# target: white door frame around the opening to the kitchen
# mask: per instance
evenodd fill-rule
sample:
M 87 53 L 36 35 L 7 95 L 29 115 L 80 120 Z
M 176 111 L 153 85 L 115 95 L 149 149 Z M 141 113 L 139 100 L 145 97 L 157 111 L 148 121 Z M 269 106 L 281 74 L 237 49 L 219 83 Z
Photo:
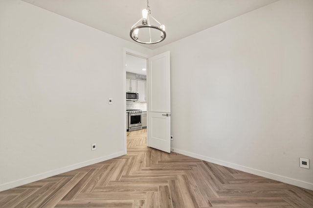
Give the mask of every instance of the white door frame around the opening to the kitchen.
M 146 64 L 147 64 L 147 69 L 148 69 L 148 58 L 150 57 L 149 55 L 147 54 L 143 54 L 143 53 L 140 53 L 140 52 L 137 52 L 137 51 L 134 51 L 134 50 L 131 50 L 131 49 L 128 49 L 128 48 L 123 48 L 123 100 L 124 100 L 124 112 L 123 112 L 123 129 L 124 129 L 124 139 L 123 139 L 123 149 L 124 149 L 124 153 L 127 154 L 127 134 L 126 134 L 126 130 L 125 130 L 125 127 L 126 127 L 126 117 L 125 117 L 125 113 L 126 113 L 126 93 L 125 93 L 125 89 L 126 89 L 126 54 L 130 54 L 130 55 L 133 55 L 135 57 L 139 57 L 139 58 L 144 58 L 146 59 Z M 148 71 L 148 70 L 147 70 Z M 148 80 L 146 80 L 148 82 Z M 147 86 L 147 85 L 146 85 Z M 147 108 L 148 108 L 148 99 L 147 99 Z M 148 117 L 148 112 L 147 112 L 147 117 Z M 148 129 L 148 126 L 147 126 L 147 129 Z

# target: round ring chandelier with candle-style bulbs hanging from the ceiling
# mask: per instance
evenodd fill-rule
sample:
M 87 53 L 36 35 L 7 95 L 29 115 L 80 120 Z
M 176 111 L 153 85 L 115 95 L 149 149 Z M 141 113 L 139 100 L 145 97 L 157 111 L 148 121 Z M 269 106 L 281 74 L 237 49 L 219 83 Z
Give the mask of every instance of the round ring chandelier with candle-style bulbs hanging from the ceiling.
M 151 15 L 149 0 L 147 8 L 142 10 L 142 18 L 132 26 L 130 36 L 134 41 L 143 44 L 155 44 L 166 38 L 165 26 Z

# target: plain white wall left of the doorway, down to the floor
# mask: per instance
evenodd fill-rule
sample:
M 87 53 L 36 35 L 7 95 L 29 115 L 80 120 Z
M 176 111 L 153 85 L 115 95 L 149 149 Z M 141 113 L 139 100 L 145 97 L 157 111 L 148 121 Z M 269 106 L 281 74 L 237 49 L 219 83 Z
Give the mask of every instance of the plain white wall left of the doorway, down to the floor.
M 0 31 L 0 190 L 125 153 L 123 48 L 151 50 L 20 0 Z

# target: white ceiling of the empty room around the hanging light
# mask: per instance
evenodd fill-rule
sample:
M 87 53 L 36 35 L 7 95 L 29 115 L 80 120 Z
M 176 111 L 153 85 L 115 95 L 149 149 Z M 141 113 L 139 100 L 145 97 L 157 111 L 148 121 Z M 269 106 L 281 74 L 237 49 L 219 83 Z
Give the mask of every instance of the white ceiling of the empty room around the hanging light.
M 146 0 L 23 0 L 53 13 L 134 42 L 130 28 L 141 18 Z M 277 0 L 150 0 L 151 14 L 166 26 L 169 44 Z

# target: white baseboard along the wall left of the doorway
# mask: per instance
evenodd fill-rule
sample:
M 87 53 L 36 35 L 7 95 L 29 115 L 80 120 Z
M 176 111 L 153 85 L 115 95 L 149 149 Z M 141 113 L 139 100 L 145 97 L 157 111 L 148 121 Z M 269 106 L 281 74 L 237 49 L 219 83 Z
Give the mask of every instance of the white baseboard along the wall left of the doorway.
M 15 188 L 15 187 L 19 187 L 19 186 L 22 186 L 22 185 L 25 185 L 25 184 L 28 184 L 28 183 L 32 183 L 32 182 L 35 182 L 35 181 L 38 181 L 38 180 L 42 180 L 42 179 L 51 177 L 53 175 L 58 175 L 58 174 L 61 174 L 61 173 L 64 173 L 64 172 L 67 172 L 67 171 L 70 171 L 70 170 L 83 168 L 85 166 L 89 166 L 89 165 L 92 165 L 92 164 L 95 164 L 95 163 L 99 163 L 99 162 L 102 162 L 102 161 L 110 160 L 112 158 L 119 157 L 119 156 L 122 156 L 122 155 L 125 155 L 124 151 L 116 152 L 114 154 L 110 154 L 110 155 L 103 156 L 103 157 L 98 157 L 98 158 L 95 158 L 95 159 L 92 159 L 92 160 L 88 160 L 88 161 L 85 161 L 85 162 L 77 163 L 77 164 L 70 165 L 70 166 L 67 166 L 67 167 L 64 167 L 64 168 L 60 168 L 60 169 L 56 169 L 56 170 L 51 170 L 51 171 L 39 173 L 37 175 L 33 175 L 33 176 L 30 176 L 30 177 L 27 177 L 27 178 L 22 178 L 22 179 L 19 179 L 19 180 L 16 180 L 16 181 L 12 181 L 12 182 L 8 182 L 8 183 L 5 183 L 5 184 L 0 184 L 0 191 L 7 190 L 7 189 L 12 189 L 12 188 Z

